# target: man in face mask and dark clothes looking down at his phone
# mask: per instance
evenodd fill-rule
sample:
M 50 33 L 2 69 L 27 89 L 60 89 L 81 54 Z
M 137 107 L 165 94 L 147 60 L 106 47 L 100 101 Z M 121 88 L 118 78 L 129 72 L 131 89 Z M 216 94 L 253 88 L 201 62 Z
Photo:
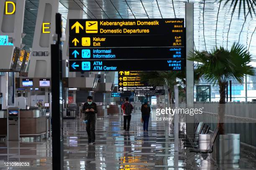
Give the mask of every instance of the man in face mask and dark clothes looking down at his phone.
M 87 97 L 87 102 L 84 103 L 82 112 L 84 113 L 84 120 L 87 120 L 86 123 L 86 132 L 88 136 L 87 144 L 95 144 L 95 121 L 97 113 L 97 105 L 95 102 L 92 102 L 92 96 Z

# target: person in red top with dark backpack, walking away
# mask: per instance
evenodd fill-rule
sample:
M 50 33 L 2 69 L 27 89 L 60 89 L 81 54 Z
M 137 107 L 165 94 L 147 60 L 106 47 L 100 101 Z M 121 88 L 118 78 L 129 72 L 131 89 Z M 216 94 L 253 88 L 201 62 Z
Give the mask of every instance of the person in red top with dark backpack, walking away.
M 131 121 L 131 112 L 133 110 L 133 105 L 129 102 L 129 97 L 125 97 L 125 102 L 122 105 L 123 110 L 123 130 L 129 131 L 130 121 Z M 126 126 L 127 122 L 127 126 Z

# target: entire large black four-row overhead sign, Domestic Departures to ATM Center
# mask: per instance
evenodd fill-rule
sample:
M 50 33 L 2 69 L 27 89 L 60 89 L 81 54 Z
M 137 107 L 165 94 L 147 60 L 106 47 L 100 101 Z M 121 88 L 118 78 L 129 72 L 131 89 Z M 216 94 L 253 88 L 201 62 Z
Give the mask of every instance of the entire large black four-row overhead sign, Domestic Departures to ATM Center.
M 184 19 L 69 20 L 69 71 L 184 70 Z

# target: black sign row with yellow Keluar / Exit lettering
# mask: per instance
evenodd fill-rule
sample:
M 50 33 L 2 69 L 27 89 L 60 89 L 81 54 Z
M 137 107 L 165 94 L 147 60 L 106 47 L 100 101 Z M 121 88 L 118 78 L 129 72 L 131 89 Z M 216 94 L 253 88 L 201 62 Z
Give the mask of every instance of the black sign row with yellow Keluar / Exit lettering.
M 176 37 L 176 38 L 175 38 Z M 184 35 L 69 36 L 69 47 L 184 47 Z

